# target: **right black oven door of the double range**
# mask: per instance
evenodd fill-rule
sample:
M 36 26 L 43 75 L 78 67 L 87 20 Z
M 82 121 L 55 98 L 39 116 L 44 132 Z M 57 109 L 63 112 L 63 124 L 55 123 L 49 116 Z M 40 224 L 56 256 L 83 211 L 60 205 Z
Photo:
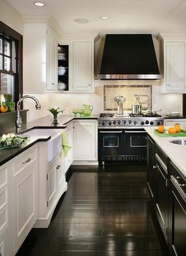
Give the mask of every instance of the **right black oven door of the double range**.
M 125 150 L 128 155 L 147 155 L 147 132 L 143 129 L 125 130 Z

